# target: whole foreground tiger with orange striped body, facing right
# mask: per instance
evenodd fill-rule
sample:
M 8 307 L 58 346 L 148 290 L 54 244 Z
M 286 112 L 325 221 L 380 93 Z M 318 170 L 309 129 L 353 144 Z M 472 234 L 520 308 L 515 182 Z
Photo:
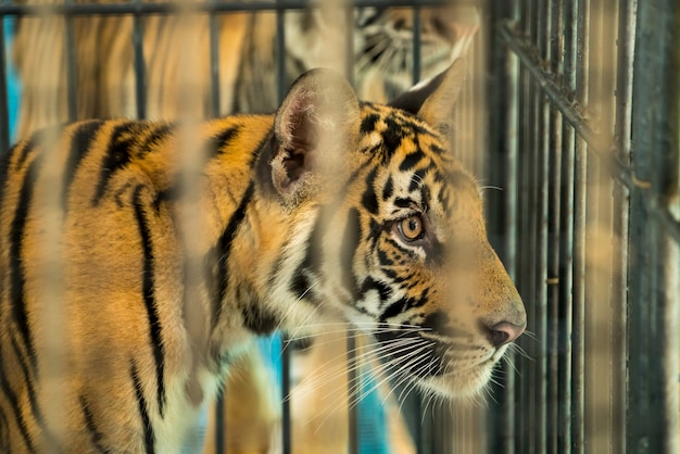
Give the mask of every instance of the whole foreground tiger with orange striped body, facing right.
M 312 70 L 275 114 L 90 119 L 0 165 L 0 449 L 181 451 L 254 336 L 345 323 L 476 395 L 526 328 L 454 157 L 464 68 L 391 104 Z

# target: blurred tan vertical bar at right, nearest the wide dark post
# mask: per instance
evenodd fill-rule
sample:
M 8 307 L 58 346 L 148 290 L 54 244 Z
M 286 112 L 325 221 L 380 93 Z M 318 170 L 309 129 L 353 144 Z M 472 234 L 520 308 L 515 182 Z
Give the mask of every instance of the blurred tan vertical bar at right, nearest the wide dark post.
M 587 25 L 589 31 L 587 48 L 583 53 L 588 62 L 588 105 L 599 113 L 593 118 L 599 126 L 603 139 L 609 139 L 614 133 L 614 90 L 616 77 L 616 1 L 591 1 L 581 3 L 587 8 Z M 579 76 L 579 87 L 581 86 Z M 580 88 L 576 100 L 580 99 Z M 610 136 L 612 135 L 612 136 Z M 591 143 L 595 146 L 595 143 Z M 619 346 L 612 343 L 613 315 L 609 301 L 613 291 L 613 278 L 616 273 L 612 267 L 612 254 L 617 247 L 617 238 L 613 235 L 613 197 L 615 180 L 612 178 L 610 166 L 606 152 L 610 149 L 599 147 L 588 150 L 588 186 L 585 194 L 585 294 L 583 304 L 584 319 L 584 383 L 583 383 L 583 439 L 588 452 L 613 453 L 612 440 L 612 400 L 613 382 L 612 357 Z M 578 153 L 578 149 L 577 149 Z M 597 154 L 600 153 L 600 154 Z M 578 162 L 578 154 L 577 154 Z M 578 167 L 577 167 L 578 171 Z M 577 187 L 578 194 L 578 187 Z M 578 196 L 577 196 L 578 200 Z M 577 210 L 578 212 L 578 210 Z M 608 237 L 605 237 L 607 235 Z M 609 241 L 607 241 L 607 239 Z M 578 301 L 578 298 L 575 298 Z

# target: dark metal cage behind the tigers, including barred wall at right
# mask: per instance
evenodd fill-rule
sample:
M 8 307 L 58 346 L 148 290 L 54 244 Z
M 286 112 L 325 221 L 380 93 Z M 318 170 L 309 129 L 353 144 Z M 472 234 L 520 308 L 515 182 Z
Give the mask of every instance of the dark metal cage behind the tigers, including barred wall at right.
M 413 79 L 418 80 L 420 10 L 449 2 L 345 3 L 350 13 L 356 7 L 413 9 Z M 680 4 L 466 3 L 480 8 L 482 22 L 473 50 L 474 89 L 466 100 L 473 108 L 459 128 L 476 134 L 468 161 L 490 187 L 490 238 L 518 285 L 531 332 L 500 370 L 486 406 L 403 403 L 414 445 L 423 454 L 678 453 Z M 193 8 L 210 14 L 275 11 L 280 75 L 284 14 L 316 5 L 214 0 Z M 74 17 L 133 15 L 137 116 L 144 117 L 142 18 L 173 14 L 175 7 L 138 0 L 0 2 L 0 149 L 8 149 L 12 136 L 5 31 L 14 18 L 62 15 L 63 39 L 73 49 Z M 214 25 L 210 33 L 216 59 Z M 347 48 L 351 51 L 351 37 Z M 74 119 L 74 52 L 67 52 L 65 64 Z M 211 67 L 217 68 L 214 61 Z M 218 114 L 218 71 L 211 80 Z M 278 78 L 279 97 L 286 84 Z M 290 387 L 287 358 L 282 395 Z M 365 452 L 358 443 L 361 415 L 349 415 L 348 452 Z M 291 453 L 288 400 L 282 417 L 281 450 Z M 217 438 L 217 446 L 224 446 L 224 434 Z

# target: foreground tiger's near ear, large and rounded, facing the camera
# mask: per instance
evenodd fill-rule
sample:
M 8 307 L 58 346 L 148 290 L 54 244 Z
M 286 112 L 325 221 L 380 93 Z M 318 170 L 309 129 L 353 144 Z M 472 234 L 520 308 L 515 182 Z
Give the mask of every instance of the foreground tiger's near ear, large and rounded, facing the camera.
M 291 86 L 276 112 L 278 142 L 270 160 L 272 181 L 285 200 L 299 200 L 342 173 L 356 147 L 358 100 L 350 84 L 330 70 L 312 70 Z

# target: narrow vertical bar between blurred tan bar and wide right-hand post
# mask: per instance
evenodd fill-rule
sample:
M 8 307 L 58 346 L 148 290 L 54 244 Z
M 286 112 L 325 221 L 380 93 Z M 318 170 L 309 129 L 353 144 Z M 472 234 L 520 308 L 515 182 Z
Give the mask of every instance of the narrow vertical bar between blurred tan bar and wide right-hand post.
M 632 126 L 632 81 L 633 55 L 635 41 L 635 0 L 619 2 L 618 13 L 618 51 L 616 79 L 616 126 L 615 141 L 620 162 L 630 163 L 631 126 Z M 628 408 L 628 248 L 624 247 L 629 239 L 629 194 L 621 185 L 614 189 L 614 235 L 619 238 L 620 249 L 613 256 L 612 300 L 612 402 L 614 408 L 612 424 L 612 452 L 627 452 L 626 411 Z

